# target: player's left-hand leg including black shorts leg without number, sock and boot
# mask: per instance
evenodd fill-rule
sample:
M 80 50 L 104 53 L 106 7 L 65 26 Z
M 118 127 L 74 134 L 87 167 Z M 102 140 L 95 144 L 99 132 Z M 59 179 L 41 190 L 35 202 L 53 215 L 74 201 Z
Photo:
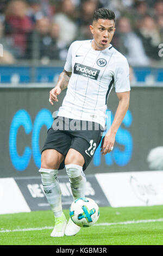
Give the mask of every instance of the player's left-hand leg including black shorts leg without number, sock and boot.
M 57 122 L 58 119 L 54 119 Z M 51 236 L 63 236 L 66 218 L 62 212 L 61 190 L 57 179 L 58 169 L 71 145 L 71 137 L 64 131 L 48 130 L 46 142 L 41 154 L 41 179 L 46 198 L 51 205 L 55 217 L 55 227 Z

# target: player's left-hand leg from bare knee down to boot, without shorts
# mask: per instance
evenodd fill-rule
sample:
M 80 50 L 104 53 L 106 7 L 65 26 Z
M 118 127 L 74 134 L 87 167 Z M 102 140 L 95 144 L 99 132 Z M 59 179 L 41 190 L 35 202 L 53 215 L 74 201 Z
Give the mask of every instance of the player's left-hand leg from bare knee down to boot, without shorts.
M 64 236 L 66 228 L 66 218 L 62 212 L 61 205 L 61 189 L 57 179 L 58 168 L 60 163 L 64 160 L 64 156 L 54 149 L 47 149 L 41 155 L 41 180 L 43 190 L 49 205 L 55 217 L 55 226 L 51 236 Z

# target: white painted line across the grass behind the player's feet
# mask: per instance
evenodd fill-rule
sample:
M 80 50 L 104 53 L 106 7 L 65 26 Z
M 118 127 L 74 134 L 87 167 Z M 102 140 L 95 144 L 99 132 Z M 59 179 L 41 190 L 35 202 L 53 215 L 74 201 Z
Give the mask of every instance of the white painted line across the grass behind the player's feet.
M 163 218 L 158 218 L 156 220 L 139 220 L 139 221 L 124 221 L 124 222 L 113 222 L 113 223 L 97 223 L 92 227 L 99 226 L 110 226 L 110 225 L 127 225 L 127 224 L 138 224 L 138 223 L 149 223 L 149 222 L 163 222 Z M 18 232 L 18 231 L 35 231 L 44 229 L 53 229 L 54 227 L 42 227 L 42 228 L 23 228 L 23 229 L 1 229 L 0 233 Z

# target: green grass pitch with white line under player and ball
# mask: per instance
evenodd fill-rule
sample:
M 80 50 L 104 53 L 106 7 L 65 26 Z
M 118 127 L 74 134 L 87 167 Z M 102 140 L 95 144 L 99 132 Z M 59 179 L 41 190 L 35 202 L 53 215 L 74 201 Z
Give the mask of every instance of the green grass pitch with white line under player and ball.
M 58 238 L 52 211 L 0 215 L 0 245 L 163 245 L 163 205 L 99 210 L 98 225 Z

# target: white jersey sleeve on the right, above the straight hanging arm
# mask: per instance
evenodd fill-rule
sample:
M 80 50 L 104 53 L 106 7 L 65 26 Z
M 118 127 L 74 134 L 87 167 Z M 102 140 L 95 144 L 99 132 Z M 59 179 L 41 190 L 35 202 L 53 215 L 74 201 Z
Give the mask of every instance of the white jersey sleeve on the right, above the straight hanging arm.
M 130 90 L 129 65 L 126 58 L 117 62 L 115 77 L 115 92 L 123 93 Z

